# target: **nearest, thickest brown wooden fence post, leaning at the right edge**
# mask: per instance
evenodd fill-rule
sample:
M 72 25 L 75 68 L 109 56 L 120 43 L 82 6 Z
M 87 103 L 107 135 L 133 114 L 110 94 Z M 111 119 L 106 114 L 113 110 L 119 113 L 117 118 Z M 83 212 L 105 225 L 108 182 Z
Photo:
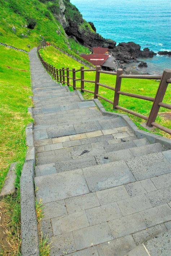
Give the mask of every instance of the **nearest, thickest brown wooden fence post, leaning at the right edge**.
M 149 114 L 148 120 L 146 122 L 146 125 L 148 127 L 152 126 L 152 123 L 155 121 L 155 119 L 157 117 L 157 114 L 158 114 L 158 111 L 159 111 L 159 108 L 160 108 L 159 102 L 163 101 L 163 98 L 165 96 L 167 86 L 168 86 L 168 83 L 167 83 L 166 80 L 169 79 L 169 78 L 171 78 L 171 70 L 170 69 L 165 69 L 163 71 L 162 78 L 161 78 L 161 81 L 160 81 L 159 86 L 158 86 L 157 93 L 156 93 L 155 98 L 154 98 L 153 106 L 150 110 L 150 114 Z

